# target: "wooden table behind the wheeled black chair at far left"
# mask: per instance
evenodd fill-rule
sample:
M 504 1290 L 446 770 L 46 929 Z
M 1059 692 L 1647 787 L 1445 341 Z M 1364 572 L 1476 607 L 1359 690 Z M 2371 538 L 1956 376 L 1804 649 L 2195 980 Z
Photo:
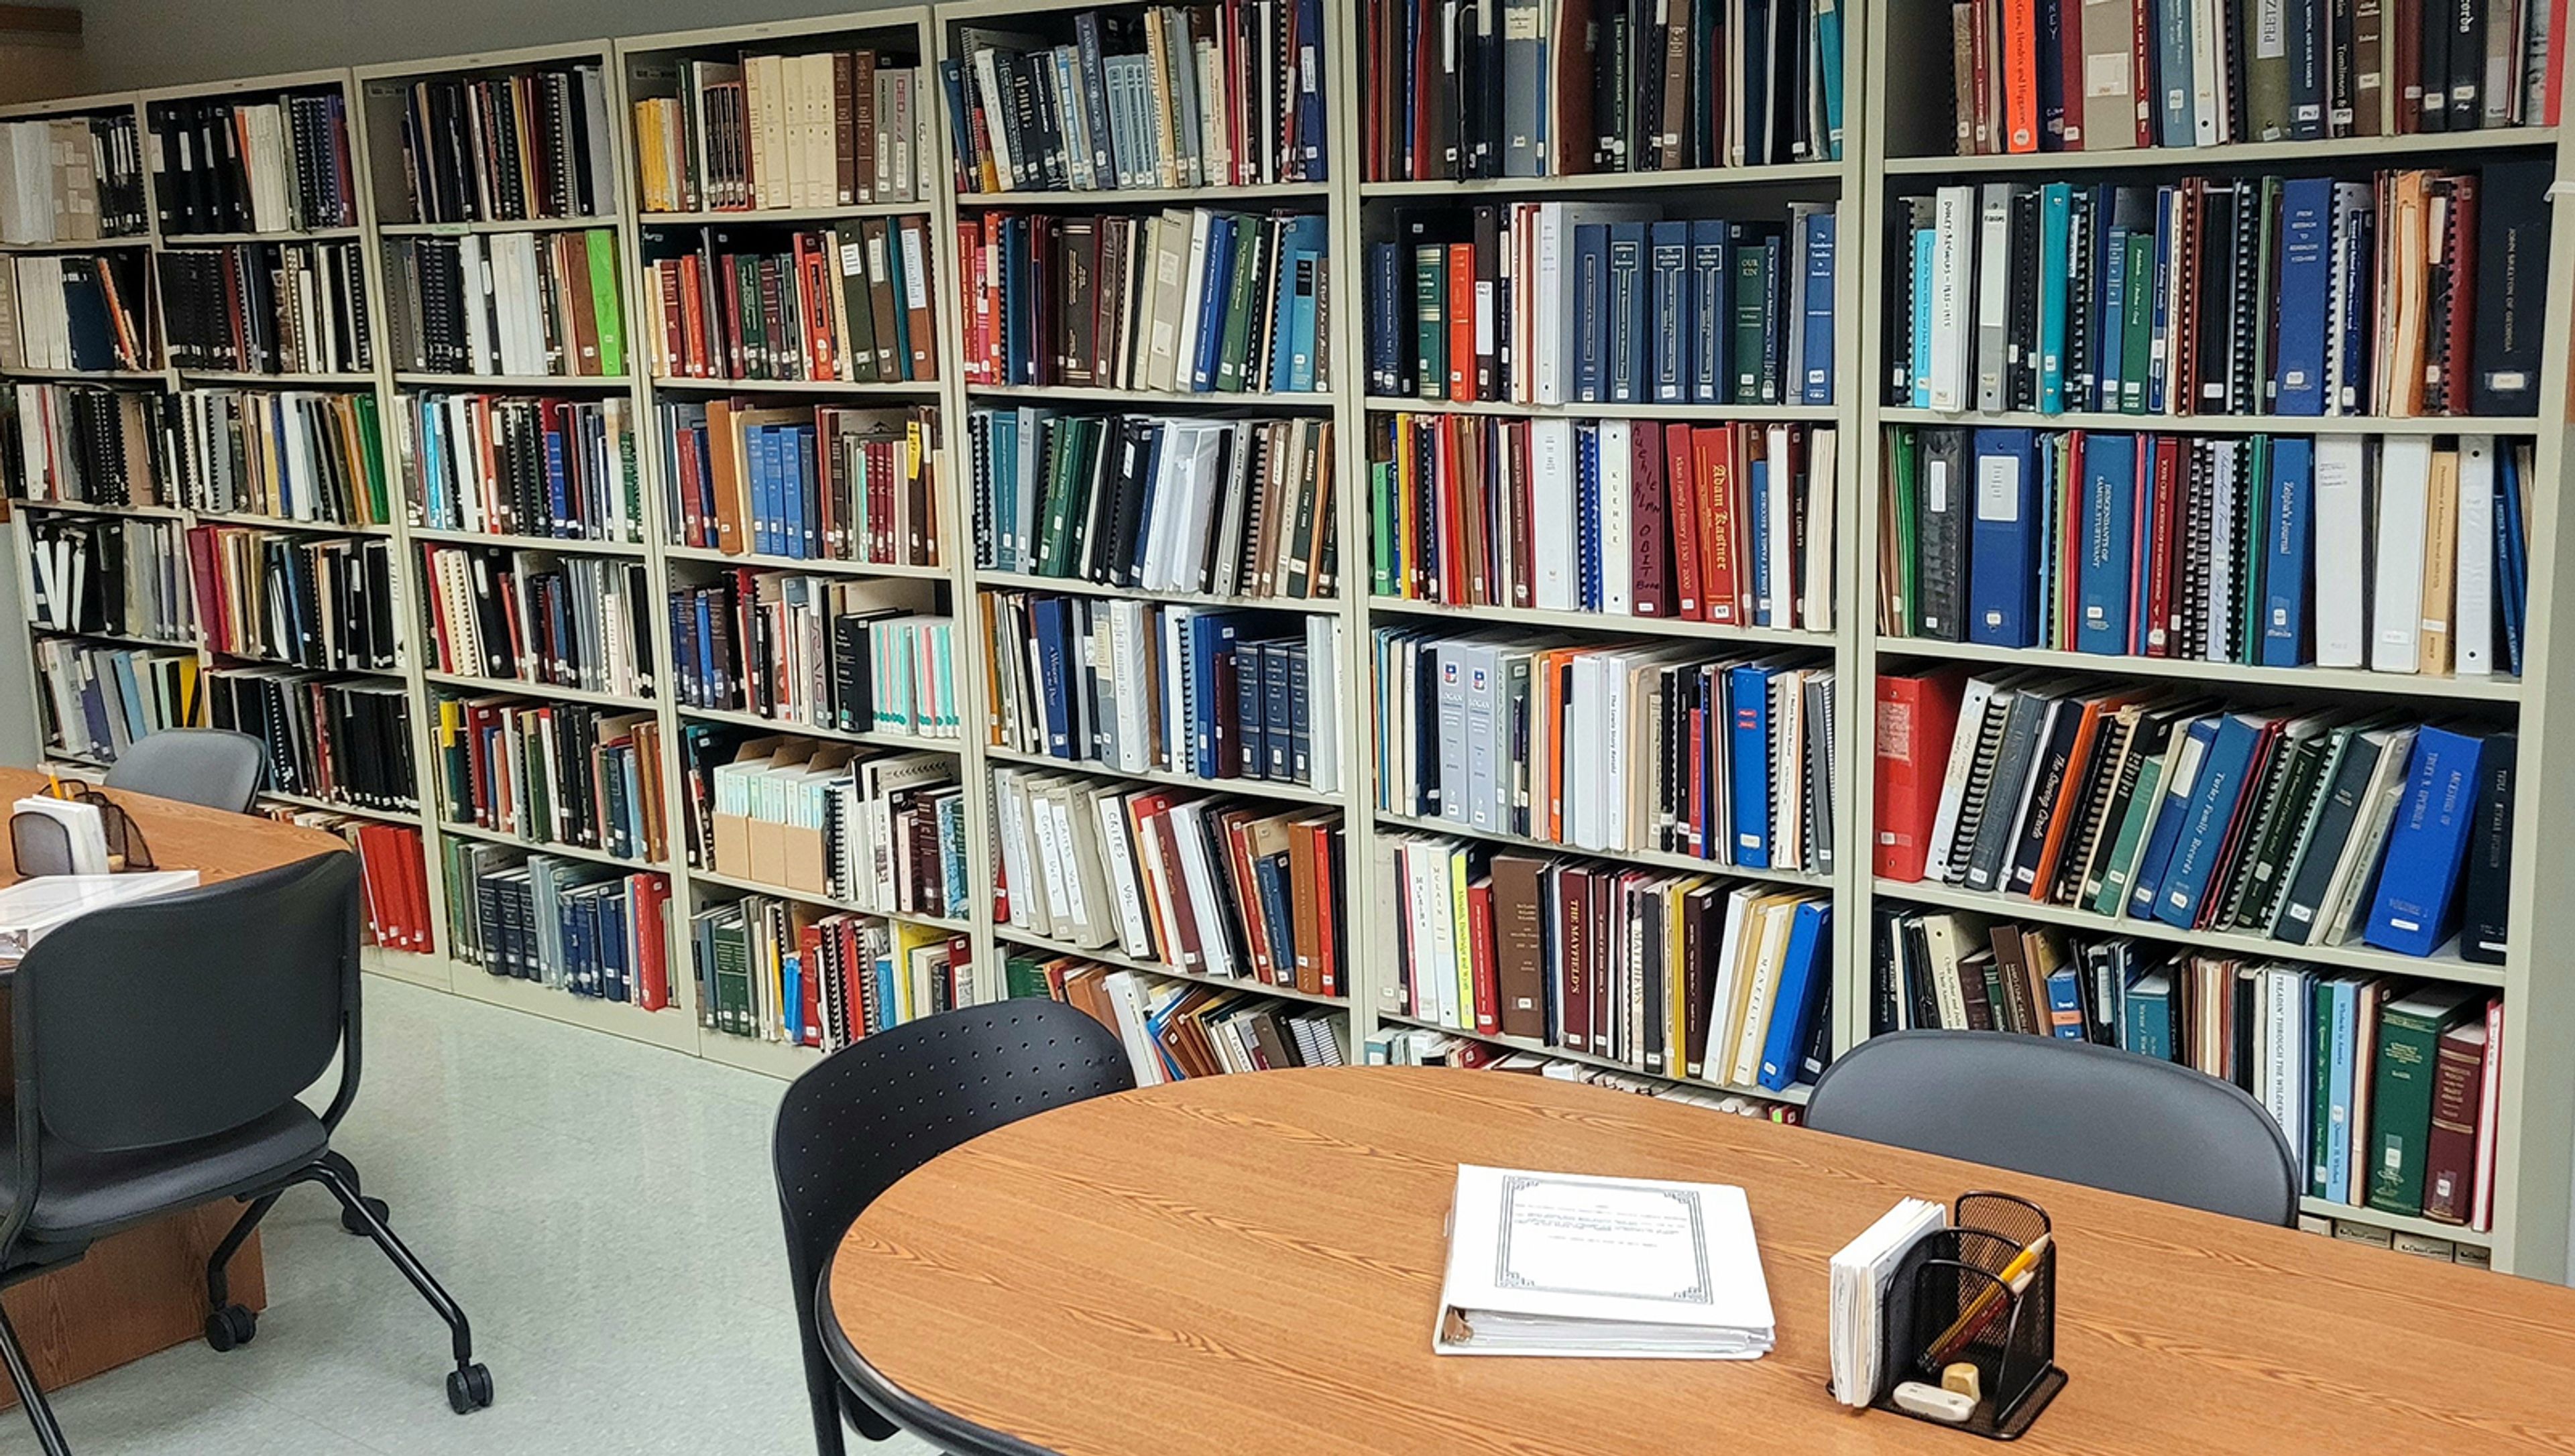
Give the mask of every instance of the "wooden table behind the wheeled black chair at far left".
M 46 777 L 33 769 L 0 769 L 0 803 L 15 803 L 44 785 Z M 111 797 L 142 828 L 154 864 L 196 869 L 209 885 L 348 849 L 337 836 L 270 818 L 131 792 Z M 15 882 L 15 864 L 0 857 L 0 885 Z M 0 1106 L 10 1101 L 10 1065 L 8 990 L 0 985 Z M 80 1263 L 0 1294 L 44 1389 L 201 1338 L 206 1255 L 237 1217 L 242 1209 L 232 1199 L 173 1214 L 100 1240 Z M 268 1307 L 258 1235 L 232 1255 L 232 1299 L 250 1309 Z M 0 1379 L 0 1410 L 10 1405 L 18 1405 L 18 1392 Z

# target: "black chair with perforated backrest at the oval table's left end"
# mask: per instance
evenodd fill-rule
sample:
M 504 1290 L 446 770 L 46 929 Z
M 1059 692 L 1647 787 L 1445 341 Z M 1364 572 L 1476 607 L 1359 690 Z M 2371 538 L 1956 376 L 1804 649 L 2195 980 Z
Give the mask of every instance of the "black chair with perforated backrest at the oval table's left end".
M 857 1214 L 904 1173 L 971 1137 L 1133 1086 L 1107 1026 L 1038 998 L 906 1021 L 796 1078 L 778 1106 L 772 1165 L 821 1456 L 845 1456 L 842 1420 L 868 1441 L 896 1430 L 834 1366 L 850 1351 L 821 1284 Z M 837 1348 L 827 1353 L 824 1340 Z

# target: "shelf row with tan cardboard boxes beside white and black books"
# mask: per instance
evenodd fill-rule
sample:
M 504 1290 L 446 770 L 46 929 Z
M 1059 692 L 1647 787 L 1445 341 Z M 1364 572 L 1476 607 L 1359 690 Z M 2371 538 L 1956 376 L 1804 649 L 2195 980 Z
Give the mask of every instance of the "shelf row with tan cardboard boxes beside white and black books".
M 682 728 L 690 864 L 878 916 L 966 918 L 966 792 L 950 754 Z

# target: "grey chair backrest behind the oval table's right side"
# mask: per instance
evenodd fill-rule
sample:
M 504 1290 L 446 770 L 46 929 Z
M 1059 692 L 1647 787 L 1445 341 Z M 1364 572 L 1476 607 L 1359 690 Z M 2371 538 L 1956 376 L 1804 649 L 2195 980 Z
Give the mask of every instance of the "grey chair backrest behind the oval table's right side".
M 1805 1124 L 2266 1224 L 2297 1214 L 2297 1158 L 2243 1088 L 2088 1042 L 1869 1037 L 1815 1080 Z

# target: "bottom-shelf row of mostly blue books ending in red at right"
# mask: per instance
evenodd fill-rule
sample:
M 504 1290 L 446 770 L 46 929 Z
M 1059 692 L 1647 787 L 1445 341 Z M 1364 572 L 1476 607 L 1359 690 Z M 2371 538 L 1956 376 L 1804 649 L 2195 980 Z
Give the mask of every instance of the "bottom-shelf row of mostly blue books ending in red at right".
M 670 877 L 448 839 L 445 882 L 458 960 L 595 1001 L 670 1006 Z

